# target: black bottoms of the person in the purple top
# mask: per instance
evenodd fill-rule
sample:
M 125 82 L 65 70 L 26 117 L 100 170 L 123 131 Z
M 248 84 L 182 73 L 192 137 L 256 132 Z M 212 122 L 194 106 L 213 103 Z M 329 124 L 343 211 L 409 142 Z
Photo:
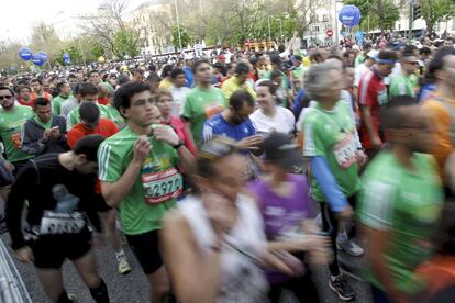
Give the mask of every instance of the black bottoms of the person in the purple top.
M 317 288 L 311 279 L 311 271 L 308 266 L 306 266 L 306 272 L 302 277 L 296 277 L 285 282 L 270 284 L 268 299 L 271 303 L 279 302 L 282 290 L 291 291 L 299 302 L 320 302 Z

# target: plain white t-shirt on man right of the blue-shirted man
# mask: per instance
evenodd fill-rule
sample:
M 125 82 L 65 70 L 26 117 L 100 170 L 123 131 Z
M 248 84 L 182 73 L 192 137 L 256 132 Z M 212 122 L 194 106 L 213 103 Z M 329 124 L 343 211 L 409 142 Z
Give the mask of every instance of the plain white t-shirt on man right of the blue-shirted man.
M 267 116 L 260 109 L 256 110 L 251 116 L 256 133 L 269 134 L 274 131 L 279 133 L 289 134 L 293 131 L 296 119 L 291 111 L 288 109 L 277 106 L 277 111 L 274 117 Z

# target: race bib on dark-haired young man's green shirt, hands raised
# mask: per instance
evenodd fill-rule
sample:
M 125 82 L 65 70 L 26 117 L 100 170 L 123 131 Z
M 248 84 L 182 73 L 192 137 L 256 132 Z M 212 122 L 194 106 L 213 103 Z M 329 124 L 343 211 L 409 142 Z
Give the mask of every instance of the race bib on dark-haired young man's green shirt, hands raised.
M 181 194 L 184 180 L 177 169 L 169 168 L 155 173 L 143 173 L 142 184 L 147 204 L 159 204 Z

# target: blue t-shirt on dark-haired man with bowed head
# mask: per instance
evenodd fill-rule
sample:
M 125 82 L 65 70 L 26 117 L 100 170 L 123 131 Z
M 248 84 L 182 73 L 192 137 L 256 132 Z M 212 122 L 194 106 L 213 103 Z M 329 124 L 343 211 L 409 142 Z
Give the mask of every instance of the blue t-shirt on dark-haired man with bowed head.
M 210 141 L 213 136 L 226 136 L 235 141 L 253 136 L 256 130 L 249 117 L 240 125 L 229 123 L 221 113 L 212 116 L 202 127 L 202 138 L 204 142 Z

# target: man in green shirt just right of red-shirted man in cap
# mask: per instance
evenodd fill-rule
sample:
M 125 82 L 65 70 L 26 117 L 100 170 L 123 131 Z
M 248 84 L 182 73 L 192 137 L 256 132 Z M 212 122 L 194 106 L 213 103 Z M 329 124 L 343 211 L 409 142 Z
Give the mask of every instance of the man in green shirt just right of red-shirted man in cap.
M 419 66 L 419 59 L 414 54 L 404 54 L 401 59 L 401 74 L 390 80 L 390 97 L 406 94 L 415 97 L 418 87 L 418 77 L 415 76 Z

